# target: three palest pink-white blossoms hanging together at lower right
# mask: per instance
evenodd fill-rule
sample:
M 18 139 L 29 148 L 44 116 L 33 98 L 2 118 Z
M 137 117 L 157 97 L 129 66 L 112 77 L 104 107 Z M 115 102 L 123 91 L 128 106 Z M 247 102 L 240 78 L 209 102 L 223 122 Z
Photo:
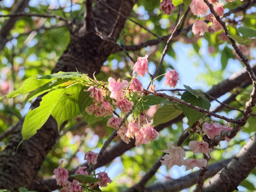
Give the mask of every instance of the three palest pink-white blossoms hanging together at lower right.
M 202 144 L 202 142 L 197 141 L 191 142 L 189 143 L 189 148 L 195 154 L 202 152 L 209 156 L 208 153 L 211 152 L 211 149 L 207 149 L 206 144 Z M 162 150 L 167 154 L 163 156 L 163 160 L 161 160 L 161 163 L 162 165 L 167 165 L 168 169 L 170 169 L 174 165 L 185 165 L 186 171 L 189 169 L 193 169 L 194 167 L 199 167 L 200 169 L 202 169 L 203 167 L 207 166 L 207 160 L 205 159 L 184 159 L 186 156 L 184 149 L 182 149 L 181 147 L 176 147 L 172 141 L 169 144 L 167 144 L 167 147 L 167 150 Z

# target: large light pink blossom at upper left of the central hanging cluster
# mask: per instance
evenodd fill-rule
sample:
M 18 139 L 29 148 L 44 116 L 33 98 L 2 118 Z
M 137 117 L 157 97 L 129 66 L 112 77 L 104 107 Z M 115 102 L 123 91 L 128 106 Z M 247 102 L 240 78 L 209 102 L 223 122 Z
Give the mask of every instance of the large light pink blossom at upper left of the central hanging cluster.
M 119 100 L 124 96 L 124 91 L 123 89 L 126 89 L 128 86 L 128 81 L 127 80 L 122 80 L 118 79 L 117 81 L 110 77 L 109 78 L 109 90 L 111 91 L 110 98 L 115 99 L 116 101 Z

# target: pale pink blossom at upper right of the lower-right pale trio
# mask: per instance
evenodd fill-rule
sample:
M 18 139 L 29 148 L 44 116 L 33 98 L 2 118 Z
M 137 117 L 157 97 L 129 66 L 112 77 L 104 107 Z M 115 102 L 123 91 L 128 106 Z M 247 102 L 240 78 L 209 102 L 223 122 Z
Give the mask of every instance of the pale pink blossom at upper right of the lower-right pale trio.
M 195 154 L 204 153 L 208 158 L 210 158 L 209 153 L 212 151 L 212 149 L 209 148 L 208 143 L 201 141 L 190 141 L 188 147 Z

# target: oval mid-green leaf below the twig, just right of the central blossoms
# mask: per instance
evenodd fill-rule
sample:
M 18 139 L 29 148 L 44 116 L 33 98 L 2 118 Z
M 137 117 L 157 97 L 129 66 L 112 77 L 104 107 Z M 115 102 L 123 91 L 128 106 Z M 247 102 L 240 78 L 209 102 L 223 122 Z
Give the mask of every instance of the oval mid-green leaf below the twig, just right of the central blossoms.
M 177 104 L 163 105 L 154 115 L 154 125 L 166 123 L 182 114 L 181 107 Z

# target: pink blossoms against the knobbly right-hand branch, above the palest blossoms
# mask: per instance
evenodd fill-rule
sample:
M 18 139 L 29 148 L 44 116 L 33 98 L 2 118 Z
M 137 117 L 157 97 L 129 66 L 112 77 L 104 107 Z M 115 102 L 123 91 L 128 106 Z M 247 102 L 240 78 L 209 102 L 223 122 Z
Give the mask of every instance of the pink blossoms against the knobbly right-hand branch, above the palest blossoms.
M 223 125 L 221 125 L 219 123 L 214 123 L 214 122 L 211 122 L 211 124 L 208 123 L 208 122 L 205 122 L 203 124 L 202 128 L 203 128 L 203 132 L 205 134 L 207 134 L 210 137 L 210 139 L 214 139 L 214 137 L 216 135 L 221 134 L 222 130 L 230 131 L 232 129 L 231 127 L 229 127 L 229 124 L 227 124 L 226 126 L 223 126 Z M 225 141 L 230 142 L 231 139 L 226 137 Z

